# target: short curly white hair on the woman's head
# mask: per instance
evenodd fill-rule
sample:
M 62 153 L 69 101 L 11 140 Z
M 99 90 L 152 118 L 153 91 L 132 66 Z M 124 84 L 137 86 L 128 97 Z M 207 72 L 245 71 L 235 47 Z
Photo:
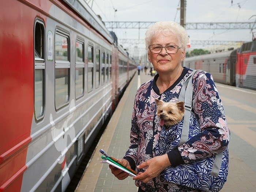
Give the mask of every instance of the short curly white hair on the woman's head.
M 182 49 L 186 47 L 189 41 L 187 31 L 180 24 L 173 21 L 160 21 L 148 28 L 145 33 L 146 50 L 148 50 L 152 38 L 159 33 L 163 33 L 166 36 L 169 34 L 176 35 Z

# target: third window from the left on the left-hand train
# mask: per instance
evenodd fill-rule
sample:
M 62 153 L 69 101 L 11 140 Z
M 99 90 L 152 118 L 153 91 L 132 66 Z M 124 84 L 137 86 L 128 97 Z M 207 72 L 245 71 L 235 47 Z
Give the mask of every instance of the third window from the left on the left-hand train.
M 84 94 L 84 44 L 76 41 L 76 73 L 75 73 L 75 95 L 76 99 Z

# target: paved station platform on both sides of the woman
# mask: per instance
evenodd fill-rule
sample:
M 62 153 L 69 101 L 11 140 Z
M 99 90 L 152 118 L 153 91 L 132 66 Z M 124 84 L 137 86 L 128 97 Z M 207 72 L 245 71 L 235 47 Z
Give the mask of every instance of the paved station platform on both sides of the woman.
M 84 174 L 75 189 L 75 192 L 136 192 L 132 177 L 125 180 L 118 180 L 111 173 L 108 164 L 99 163 L 101 161 L 100 149 L 115 158 L 122 158 L 129 146 L 129 133 L 131 128 L 131 116 L 135 92 L 140 84 L 147 82 L 153 77 L 144 74 L 136 74 L 129 86 L 125 90 L 123 97 L 118 103 L 117 109 L 113 113 L 109 124 L 103 132 L 101 139 L 84 171 Z M 256 191 L 256 108 L 239 105 L 239 101 L 230 99 L 228 93 L 236 95 L 233 91 L 240 91 L 238 88 L 226 91 L 231 86 L 217 84 L 225 110 L 227 122 L 231 131 L 231 141 L 229 145 L 229 174 L 227 182 L 221 192 L 251 192 Z M 232 87 L 230 89 L 233 89 Z M 222 94 L 223 92 L 223 94 Z M 256 91 L 248 91 L 249 96 L 255 98 Z M 251 105 L 251 104 L 250 104 Z M 234 107 L 242 108 L 246 114 L 251 114 L 248 121 L 234 118 L 237 114 L 232 114 Z M 234 115 L 234 116 L 233 116 Z M 247 115 L 248 116 L 248 115 Z M 242 117 L 243 118 L 243 117 Z M 236 121 L 241 121 L 237 123 Z M 243 123 L 244 122 L 244 123 Z M 243 124 L 243 131 L 239 131 L 239 125 Z M 241 126 L 240 126 L 241 127 Z M 254 139 L 253 139 L 254 138 Z

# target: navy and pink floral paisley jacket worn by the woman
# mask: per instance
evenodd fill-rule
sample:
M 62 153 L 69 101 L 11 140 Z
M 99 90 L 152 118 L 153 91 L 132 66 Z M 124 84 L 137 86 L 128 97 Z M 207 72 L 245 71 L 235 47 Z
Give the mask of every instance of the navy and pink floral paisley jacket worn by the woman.
M 161 127 L 159 124 L 160 119 L 156 115 L 157 105 L 154 99 L 177 102 L 181 87 L 191 72 L 192 69 L 184 68 L 179 79 L 162 94 L 159 94 L 156 86 L 158 74 L 153 80 L 142 84 L 136 92 L 131 122 L 131 144 L 124 157 L 133 168 L 148 159 L 166 153 L 172 166 L 196 162 L 211 157 L 227 147 L 229 130 L 225 113 L 212 76 L 207 72 L 198 71 L 193 76 L 194 115 L 191 115 L 190 121 L 193 126 L 189 128 L 188 141 L 178 147 L 183 120 L 170 127 Z M 144 172 L 144 170 L 137 171 Z M 146 184 L 140 181 L 135 181 L 135 184 L 147 192 L 194 190 L 167 182 L 163 173 Z

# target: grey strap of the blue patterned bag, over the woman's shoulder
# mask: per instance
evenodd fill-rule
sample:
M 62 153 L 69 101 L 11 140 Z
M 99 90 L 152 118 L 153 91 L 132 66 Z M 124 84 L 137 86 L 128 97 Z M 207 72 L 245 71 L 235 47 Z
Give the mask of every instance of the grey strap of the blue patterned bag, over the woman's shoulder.
M 188 78 L 185 80 L 178 101 L 184 101 L 185 112 L 184 112 L 184 121 L 181 131 L 180 143 L 178 146 L 181 146 L 183 143 L 188 141 L 188 131 L 189 131 L 189 120 L 192 110 L 192 96 L 193 96 L 193 86 L 192 86 L 192 77 L 197 70 L 189 74 Z M 219 170 L 221 168 L 223 151 L 215 155 L 214 163 L 212 165 L 211 176 L 218 177 Z

